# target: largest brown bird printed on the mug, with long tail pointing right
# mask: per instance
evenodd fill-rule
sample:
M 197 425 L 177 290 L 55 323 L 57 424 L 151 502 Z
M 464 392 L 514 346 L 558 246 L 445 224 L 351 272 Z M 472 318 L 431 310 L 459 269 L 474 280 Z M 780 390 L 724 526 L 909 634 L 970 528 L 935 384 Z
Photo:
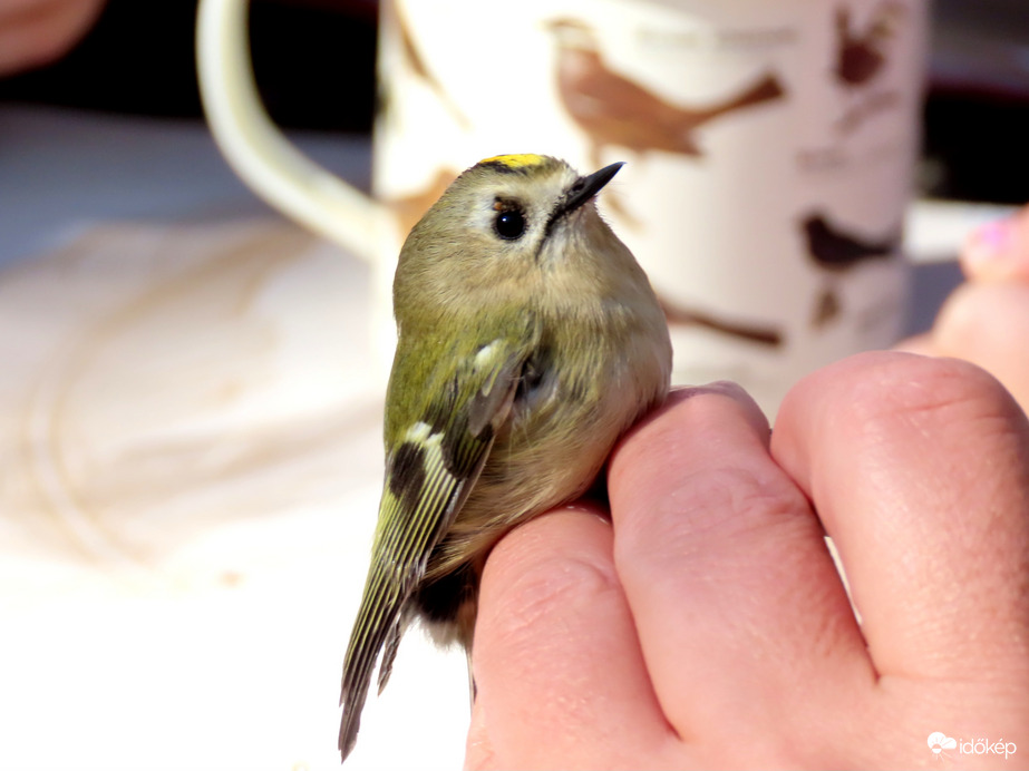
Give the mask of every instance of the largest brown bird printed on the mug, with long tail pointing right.
M 700 126 L 785 96 L 779 79 L 766 74 L 717 104 L 680 107 L 612 70 L 586 23 L 562 18 L 549 22 L 547 28 L 557 40 L 561 99 L 593 144 L 595 164 L 600 164 L 601 150 L 608 145 L 637 153 L 664 150 L 701 156 L 696 136 Z

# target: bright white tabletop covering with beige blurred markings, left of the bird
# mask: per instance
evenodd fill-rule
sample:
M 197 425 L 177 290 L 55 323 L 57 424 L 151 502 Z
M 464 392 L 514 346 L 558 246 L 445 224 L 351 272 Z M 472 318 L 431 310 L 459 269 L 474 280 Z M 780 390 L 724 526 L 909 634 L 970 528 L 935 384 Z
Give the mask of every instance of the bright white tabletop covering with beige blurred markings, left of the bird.
M 279 219 L 0 272 L 0 768 L 337 769 L 381 484 L 367 267 Z M 415 632 L 349 769 L 459 768 Z

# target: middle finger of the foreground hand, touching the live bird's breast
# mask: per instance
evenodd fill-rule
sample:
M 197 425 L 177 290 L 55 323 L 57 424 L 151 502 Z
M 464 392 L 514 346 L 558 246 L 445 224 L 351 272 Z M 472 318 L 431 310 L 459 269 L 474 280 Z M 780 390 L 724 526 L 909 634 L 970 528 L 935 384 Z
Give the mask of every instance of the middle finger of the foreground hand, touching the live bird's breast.
M 740 725 L 825 726 L 829 681 L 871 677 L 822 527 L 767 442 L 753 400 L 720 384 L 673 394 L 611 463 L 615 565 L 647 666 L 701 744 L 738 743 Z

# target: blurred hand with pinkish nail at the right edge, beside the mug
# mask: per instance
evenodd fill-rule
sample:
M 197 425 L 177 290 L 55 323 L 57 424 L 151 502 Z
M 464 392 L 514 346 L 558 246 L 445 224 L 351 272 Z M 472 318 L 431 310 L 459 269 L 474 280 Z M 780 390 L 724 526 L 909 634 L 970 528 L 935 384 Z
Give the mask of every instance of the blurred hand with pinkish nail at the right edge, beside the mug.
M 1029 410 L 1029 206 L 973 232 L 961 267 L 968 282 L 948 299 L 933 329 L 901 348 L 979 364 Z

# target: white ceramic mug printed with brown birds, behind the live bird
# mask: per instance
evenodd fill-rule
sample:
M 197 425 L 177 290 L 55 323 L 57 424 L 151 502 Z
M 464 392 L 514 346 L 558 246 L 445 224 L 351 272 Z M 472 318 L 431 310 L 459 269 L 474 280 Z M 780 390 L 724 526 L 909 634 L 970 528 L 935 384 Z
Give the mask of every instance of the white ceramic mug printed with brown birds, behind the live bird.
M 382 0 L 373 199 L 271 125 L 246 10 L 201 2 L 214 135 L 269 202 L 376 265 L 384 341 L 407 231 L 504 153 L 629 162 L 601 207 L 664 304 L 677 382 L 737 380 L 774 412 L 900 332 L 929 0 Z

